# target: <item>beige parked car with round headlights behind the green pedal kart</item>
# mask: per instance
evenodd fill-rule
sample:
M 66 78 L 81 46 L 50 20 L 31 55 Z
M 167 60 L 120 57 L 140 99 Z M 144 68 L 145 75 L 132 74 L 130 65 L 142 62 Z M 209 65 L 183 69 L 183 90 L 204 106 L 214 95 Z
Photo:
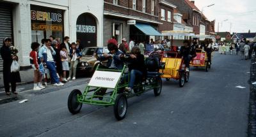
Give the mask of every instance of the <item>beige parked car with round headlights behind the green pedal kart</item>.
M 86 47 L 81 51 L 82 57 L 79 59 L 79 63 L 77 64 L 77 74 L 79 73 L 93 73 L 97 68 L 97 65 L 100 61 L 97 61 L 93 54 L 102 55 L 104 53 L 108 53 L 107 47 Z M 106 61 L 102 62 L 102 64 L 106 65 Z

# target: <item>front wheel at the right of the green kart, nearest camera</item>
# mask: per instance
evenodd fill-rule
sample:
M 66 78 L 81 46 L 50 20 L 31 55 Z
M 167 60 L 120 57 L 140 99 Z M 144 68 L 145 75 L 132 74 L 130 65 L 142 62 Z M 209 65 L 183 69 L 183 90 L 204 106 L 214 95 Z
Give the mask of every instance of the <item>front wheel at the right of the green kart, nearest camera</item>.
M 117 120 L 124 119 L 126 112 L 127 112 L 127 98 L 123 93 L 118 94 L 115 100 L 115 105 L 114 105 L 114 114 L 116 119 Z

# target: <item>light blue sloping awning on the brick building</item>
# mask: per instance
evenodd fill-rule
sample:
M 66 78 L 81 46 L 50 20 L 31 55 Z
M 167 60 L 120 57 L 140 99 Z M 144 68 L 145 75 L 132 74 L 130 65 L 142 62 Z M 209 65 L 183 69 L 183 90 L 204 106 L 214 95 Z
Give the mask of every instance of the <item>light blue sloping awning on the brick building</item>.
M 145 35 L 148 36 L 163 36 L 160 32 L 158 32 L 154 27 L 148 24 L 135 24 L 135 27 L 140 29 Z

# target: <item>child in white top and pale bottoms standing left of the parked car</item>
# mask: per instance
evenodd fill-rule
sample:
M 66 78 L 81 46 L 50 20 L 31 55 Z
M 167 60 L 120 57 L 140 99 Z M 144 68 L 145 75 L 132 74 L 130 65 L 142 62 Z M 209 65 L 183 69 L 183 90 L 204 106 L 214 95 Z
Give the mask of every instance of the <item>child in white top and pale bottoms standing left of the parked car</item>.
M 60 57 L 61 57 L 61 63 L 62 63 L 62 70 L 63 70 L 63 82 L 68 82 L 68 80 L 66 79 L 66 71 L 69 71 L 69 66 L 68 66 L 68 53 L 67 53 L 67 49 L 64 46 L 60 47 L 61 51 L 60 51 Z

